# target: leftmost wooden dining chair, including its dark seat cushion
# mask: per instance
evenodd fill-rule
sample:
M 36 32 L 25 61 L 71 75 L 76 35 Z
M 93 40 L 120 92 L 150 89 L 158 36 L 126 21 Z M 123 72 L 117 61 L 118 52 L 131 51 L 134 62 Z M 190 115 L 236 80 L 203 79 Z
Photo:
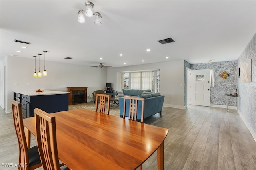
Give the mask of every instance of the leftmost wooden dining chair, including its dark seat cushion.
M 37 146 L 28 148 L 23 126 L 21 103 L 12 100 L 12 115 L 19 144 L 18 170 L 34 170 L 42 166 Z

